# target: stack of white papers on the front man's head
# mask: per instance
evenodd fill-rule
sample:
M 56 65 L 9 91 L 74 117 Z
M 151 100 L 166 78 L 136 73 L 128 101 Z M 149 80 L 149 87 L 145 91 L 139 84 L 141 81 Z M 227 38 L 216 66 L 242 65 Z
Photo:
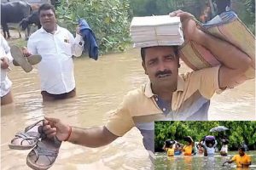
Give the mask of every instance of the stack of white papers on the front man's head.
M 131 20 L 131 39 L 136 48 L 182 45 L 184 39 L 181 27 L 179 17 L 134 17 Z

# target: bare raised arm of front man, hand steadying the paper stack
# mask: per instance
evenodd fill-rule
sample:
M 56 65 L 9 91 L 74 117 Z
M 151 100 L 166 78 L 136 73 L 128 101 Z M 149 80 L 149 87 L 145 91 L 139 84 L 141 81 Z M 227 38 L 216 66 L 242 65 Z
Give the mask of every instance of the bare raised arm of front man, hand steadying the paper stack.
M 219 88 L 233 88 L 243 77 L 250 65 L 253 65 L 252 59 L 240 49 L 231 45 L 229 42 L 213 37 L 196 27 L 192 14 L 181 10 L 174 11 L 171 16 L 179 16 L 183 22 L 183 33 L 185 39 L 192 40 L 203 47 L 209 49 L 221 63 L 218 72 Z M 245 44 L 246 45 L 246 44 Z

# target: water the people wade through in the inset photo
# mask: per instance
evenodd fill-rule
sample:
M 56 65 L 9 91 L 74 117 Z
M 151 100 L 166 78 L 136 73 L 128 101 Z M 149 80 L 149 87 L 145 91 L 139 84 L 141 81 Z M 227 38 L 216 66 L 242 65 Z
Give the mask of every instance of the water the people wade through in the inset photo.
M 237 154 L 237 151 L 230 151 L 229 156 L 166 156 L 166 153 L 156 153 L 156 160 L 154 169 L 204 169 L 204 170 L 230 170 L 230 169 L 239 169 L 236 168 L 235 162 L 232 164 L 224 164 L 224 161 L 230 160 L 233 156 Z M 247 155 L 250 155 L 252 158 L 252 165 L 249 169 L 256 169 L 256 151 L 248 151 Z M 243 168 L 244 169 L 244 168 Z

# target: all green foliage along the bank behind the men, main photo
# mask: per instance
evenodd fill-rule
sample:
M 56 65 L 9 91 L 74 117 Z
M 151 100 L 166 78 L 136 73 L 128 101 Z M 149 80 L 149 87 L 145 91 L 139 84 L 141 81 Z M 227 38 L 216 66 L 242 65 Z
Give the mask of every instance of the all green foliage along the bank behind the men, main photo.
M 212 2 L 212 0 L 208 0 Z M 73 0 L 61 1 L 57 8 L 61 26 L 74 32 L 79 17 L 95 32 L 100 53 L 124 51 L 131 45 L 129 27 L 133 16 L 168 14 L 182 9 L 199 19 L 207 0 Z M 212 4 L 212 3 L 210 3 Z M 232 8 L 255 32 L 255 1 L 232 0 Z M 213 16 L 212 16 L 213 17 Z

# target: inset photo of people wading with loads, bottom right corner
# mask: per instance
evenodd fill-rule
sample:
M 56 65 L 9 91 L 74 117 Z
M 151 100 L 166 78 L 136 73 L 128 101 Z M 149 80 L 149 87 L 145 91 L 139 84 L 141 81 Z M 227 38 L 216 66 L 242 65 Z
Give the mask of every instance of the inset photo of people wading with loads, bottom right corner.
M 256 122 L 154 122 L 154 169 L 256 169 Z

